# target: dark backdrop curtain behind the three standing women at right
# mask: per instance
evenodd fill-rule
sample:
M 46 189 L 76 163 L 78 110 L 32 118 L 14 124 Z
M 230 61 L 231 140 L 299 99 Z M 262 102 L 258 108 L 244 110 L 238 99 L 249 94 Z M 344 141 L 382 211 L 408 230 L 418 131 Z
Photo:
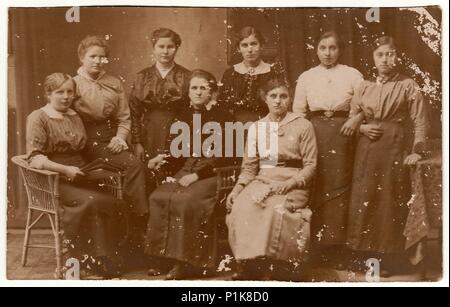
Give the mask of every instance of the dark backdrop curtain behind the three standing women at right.
M 431 137 L 441 137 L 442 57 L 441 10 L 437 6 L 417 8 L 270 8 L 230 9 L 229 38 L 246 25 L 258 28 L 267 43 L 263 57 L 281 61 L 287 78 L 295 82 L 304 71 L 319 64 L 317 40 L 334 30 L 344 43 L 342 64 L 358 69 L 364 78 L 374 77 L 371 45 L 382 35 L 397 44 L 399 70 L 421 87 L 430 113 Z M 229 64 L 239 61 L 234 43 Z

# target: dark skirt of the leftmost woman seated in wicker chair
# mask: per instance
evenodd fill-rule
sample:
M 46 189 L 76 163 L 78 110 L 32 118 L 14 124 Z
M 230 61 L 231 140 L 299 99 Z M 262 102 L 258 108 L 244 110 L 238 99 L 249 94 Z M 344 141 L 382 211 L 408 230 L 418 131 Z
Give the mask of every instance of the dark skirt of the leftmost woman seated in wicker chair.
M 86 184 L 61 181 L 61 225 L 77 255 L 114 256 L 125 235 L 124 203 Z M 76 256 L 76 255 L 75 255 Z

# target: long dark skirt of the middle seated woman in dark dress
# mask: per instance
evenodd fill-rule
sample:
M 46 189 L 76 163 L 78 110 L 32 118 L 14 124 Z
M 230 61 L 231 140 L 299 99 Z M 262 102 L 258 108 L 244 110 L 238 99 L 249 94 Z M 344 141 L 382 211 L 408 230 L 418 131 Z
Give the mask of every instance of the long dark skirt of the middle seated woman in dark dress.
M 182 169 L 175 178 L 188 173 Z M 145 253 L 196 267 L 213 267 L 216 254 L 215 195 L 215 177 L 199 180 L 187 188 L 177 183 L 159 186 L 150 195 Z

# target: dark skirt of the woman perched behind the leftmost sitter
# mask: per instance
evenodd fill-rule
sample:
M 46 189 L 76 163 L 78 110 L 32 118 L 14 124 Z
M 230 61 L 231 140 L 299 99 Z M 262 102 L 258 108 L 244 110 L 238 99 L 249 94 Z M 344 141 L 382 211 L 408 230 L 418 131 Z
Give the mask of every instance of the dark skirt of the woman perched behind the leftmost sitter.
M 85 124 L 88 141 L 83 155 L 88 161 L 97 158 L 107 159 L 125 172 L 124 194 L 130 212 L 136 216 L 148 214 L 148 198 L 145 189 L 145 168 L 139 159 L 130 151 L 112 154 L 106 147 L 116 135 L 117 125 L 110 121 Z

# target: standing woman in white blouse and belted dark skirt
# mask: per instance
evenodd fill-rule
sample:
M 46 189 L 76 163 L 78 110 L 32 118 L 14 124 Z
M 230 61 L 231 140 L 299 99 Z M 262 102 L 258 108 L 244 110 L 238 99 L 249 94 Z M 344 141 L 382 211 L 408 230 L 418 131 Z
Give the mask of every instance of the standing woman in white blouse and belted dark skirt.
M 317 137 L 311 234 L 324 262 L 331 260 L 327 259 L 327 251 L 335 254 L 336 247 L 346 242 L 352 135 L 360 120 L 357 116 L 348 121 L 348 116 L 350 101 L 363 77 L 355 68 L 338 63 L 342 49 L 342 41 L 334 31 L 320 36 L 317 44 L 320 64 L 300 75 L 293 103 L 295 113 L 311 120 Z

